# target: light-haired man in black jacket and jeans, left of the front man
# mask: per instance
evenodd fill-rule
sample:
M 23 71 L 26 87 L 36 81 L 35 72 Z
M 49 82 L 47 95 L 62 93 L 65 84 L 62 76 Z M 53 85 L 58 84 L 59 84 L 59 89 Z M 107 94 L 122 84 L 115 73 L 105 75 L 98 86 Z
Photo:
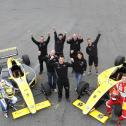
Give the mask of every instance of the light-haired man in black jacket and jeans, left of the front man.
M 48 75 L 48 84 L 54 92 L 57 92 L 56 90 L 56 83 L 57 83 L 57 77 L 56 72 L 54 69 L 54 66 L 52 64 L 58 62 L 58 57 L 55 55 L 55 50 L 51 50 L 50 54 L 46 56 L 46 67 L 47 67 L 47 75 Z

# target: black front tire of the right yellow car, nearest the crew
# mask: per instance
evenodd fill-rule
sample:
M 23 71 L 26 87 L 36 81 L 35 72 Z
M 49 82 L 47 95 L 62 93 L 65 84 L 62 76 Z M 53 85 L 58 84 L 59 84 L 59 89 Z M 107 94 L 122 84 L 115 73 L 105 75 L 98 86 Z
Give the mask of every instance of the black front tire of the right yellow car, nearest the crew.
M 86 81 L 81 81 L 79 86 L 77 87 L 78 96 L 83 96 L 86 90 L 89 90 L 89 83 Z

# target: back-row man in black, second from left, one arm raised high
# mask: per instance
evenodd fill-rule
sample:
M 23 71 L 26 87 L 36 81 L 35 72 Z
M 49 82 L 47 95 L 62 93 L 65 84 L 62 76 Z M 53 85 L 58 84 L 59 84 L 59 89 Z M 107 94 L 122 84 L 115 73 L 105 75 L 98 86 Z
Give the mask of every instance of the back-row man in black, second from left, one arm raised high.
M 55 30 L 55 28 L 53 28 L 54 31 L 54 40 L 55 40 L 55 51 L 56 51 L 56 55 L 59 56 L 63 56 L 63 48 L 64 48 L 64 42 L 66 40 L 66 33 L 65 34 L 58 34 Z

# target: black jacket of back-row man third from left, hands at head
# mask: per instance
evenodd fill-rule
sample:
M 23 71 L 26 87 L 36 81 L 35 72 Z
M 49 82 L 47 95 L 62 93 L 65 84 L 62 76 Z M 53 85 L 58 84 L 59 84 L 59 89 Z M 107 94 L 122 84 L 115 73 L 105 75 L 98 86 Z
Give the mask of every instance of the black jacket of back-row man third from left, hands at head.
M 81 47 L 80 44 L 83 42 L 83 39 L 77 38 L 75 41 L 73 38 L 68 40 L 67 43 L 70 44 L 70 50 L 73 50 L 75 52 L 80 51 Z

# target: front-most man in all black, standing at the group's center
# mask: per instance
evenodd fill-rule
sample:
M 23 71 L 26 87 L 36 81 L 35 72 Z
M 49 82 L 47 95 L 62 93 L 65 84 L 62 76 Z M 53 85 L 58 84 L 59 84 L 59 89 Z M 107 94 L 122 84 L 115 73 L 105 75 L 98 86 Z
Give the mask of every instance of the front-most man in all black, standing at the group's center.
M 54 63 L 54 67 L 57 73 L 57 86 L 58 86 L 58 101 L 62 100 L 63 87 L 65 89 L 66 99 L 69 100 L 69 79 L 68 79 L 68 67 L 72 67 L 72 64 L 64 62 L 64 57 L 59 57 L 59 62 Z

